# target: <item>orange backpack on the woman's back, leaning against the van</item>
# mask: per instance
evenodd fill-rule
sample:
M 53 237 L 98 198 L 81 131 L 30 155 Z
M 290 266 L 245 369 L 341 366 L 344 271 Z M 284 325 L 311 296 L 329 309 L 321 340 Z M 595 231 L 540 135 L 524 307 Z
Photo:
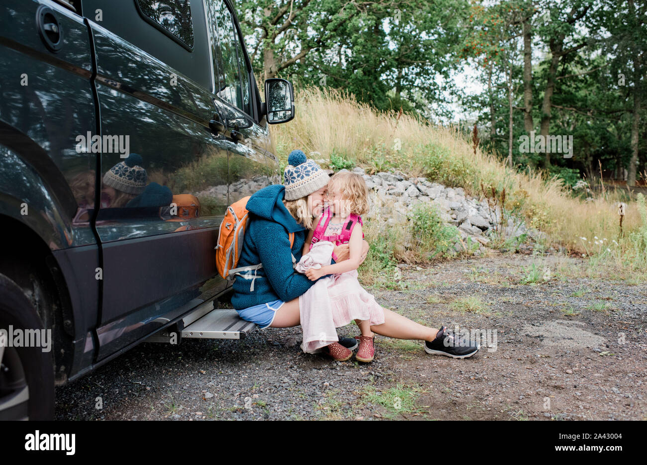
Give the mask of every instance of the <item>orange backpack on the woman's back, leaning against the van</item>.
M 262 263 L 258 265 L 241 266 L 236 268 L 241 252 L 243 252 L 243 238 L 245 237 L 245 228 L 247 228 L 248 210 L 247 200 L 251 196 L 243 197 L 227 207 L 225 218 L 220 223 L 218 231 L 218 241 L 215 246 L 215 266 L 218 273 L 225 279 L 231 276 L 241 276 L 245 279 L 251 279 L 250 292 L 254 292 L 254 279 L 258 277 L 256 270 L 263 267 Z M 290 248 L 294 244 L 294 233 L 289 233 Z M 296 258 L 292 254 L 292 267 L 296 266 Z M 243 274 L 245 272 L 245 274 Z

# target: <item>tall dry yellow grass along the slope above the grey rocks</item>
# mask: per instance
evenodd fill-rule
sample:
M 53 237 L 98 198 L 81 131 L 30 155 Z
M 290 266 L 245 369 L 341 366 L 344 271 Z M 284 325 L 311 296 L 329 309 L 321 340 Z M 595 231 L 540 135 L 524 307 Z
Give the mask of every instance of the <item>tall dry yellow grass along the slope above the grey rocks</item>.
M 296 92 L 296 116 L 289 124 L 272 126 L 274 153 L 285 166 L 287 154 L 302 149 L 313 158 L 334 154 L 371 171 L 397 168 L 418 177 L 428 174 L 432 152 L 440 163 L 438 182 L 461 186 L 481 195 L 480 184 L 507 192 L 506 207 L 516 210 L 531 226 L 549 235 L 549 241 L 586 254 L 580 237 L 619 239 L 617 191 L 585 201 L 573 196 L 558 178 L 542 171 L 519 173 L 479 147 L 476 155 L 466 135 L 455 127 L 429 125 L 407 114 L 378 112 L 366 103 L 331 89 L 309 87 Z M 448 176 L 444 171 L 455 171 Z M 641 224 L 636 202 L 628 202 L 623 228 Z M 620 241 L 622 244 L 622 241 Z M 643 253 L 644 251 L 635 251 Z

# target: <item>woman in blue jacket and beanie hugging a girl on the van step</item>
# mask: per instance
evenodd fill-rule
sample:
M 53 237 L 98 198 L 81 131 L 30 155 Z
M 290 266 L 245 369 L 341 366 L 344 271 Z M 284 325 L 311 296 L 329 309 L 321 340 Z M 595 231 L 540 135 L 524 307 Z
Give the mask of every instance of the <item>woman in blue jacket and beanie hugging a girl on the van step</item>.
M 303 242 L 313 227 L 313 218 L 320 214 L 329 176 L 313 160 L 285 168 L 285 184 L 267 186 L 254 193 L 247 201 L 250 212 L 243 250 L 237 266 L 262 263 L 254 276 L 236 278 L 232 305 L 241 318 L 253 321 L 261 329 L 287 328 L 300 324 L 299 296 L 316 281 L 294 271 L 292 257 L 299 261 Z M 290 247 L 288 233 L 294 233 Z M 366 257 L 368 244 L 364 241 Z M 334 256 L 347 259 L 347 245 L 336 246 Z M 334 261 L 334 260 L 333 260 Z M 331 276 L 325 275 L 320 277 Z M 371 326 L 371 331 L 398 339 L 424 340 L 428 354 L 442 354 L 467 358 L 480 345 L 454 341 L 446 327 L 428 328 L 384 308 L 384 323 Z M 327 352 L 337 360 L 348 358 L 349 349 L 338 343 L 327 346 Z

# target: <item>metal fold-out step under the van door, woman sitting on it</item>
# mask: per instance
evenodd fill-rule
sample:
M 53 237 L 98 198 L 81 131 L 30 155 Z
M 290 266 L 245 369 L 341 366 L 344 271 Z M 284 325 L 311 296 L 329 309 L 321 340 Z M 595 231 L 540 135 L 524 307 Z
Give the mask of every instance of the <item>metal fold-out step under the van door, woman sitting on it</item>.
M 212 310 L 182 330 L 182 338 L 245 339 L 256 323 L 245 321 L 236 310 Z

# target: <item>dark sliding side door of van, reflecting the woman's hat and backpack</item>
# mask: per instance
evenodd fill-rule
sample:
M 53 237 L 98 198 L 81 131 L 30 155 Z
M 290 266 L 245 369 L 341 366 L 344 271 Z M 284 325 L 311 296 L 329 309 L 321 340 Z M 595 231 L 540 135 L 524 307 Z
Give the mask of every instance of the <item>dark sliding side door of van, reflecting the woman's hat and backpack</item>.
M 101 360 L 226 287 L 214 243 L 229 204 L 228 160 L 210 127 L 223 116 L 203 0 L 82 1 L 100 131 L 113 141 L 101 154 L 96 217 Z

